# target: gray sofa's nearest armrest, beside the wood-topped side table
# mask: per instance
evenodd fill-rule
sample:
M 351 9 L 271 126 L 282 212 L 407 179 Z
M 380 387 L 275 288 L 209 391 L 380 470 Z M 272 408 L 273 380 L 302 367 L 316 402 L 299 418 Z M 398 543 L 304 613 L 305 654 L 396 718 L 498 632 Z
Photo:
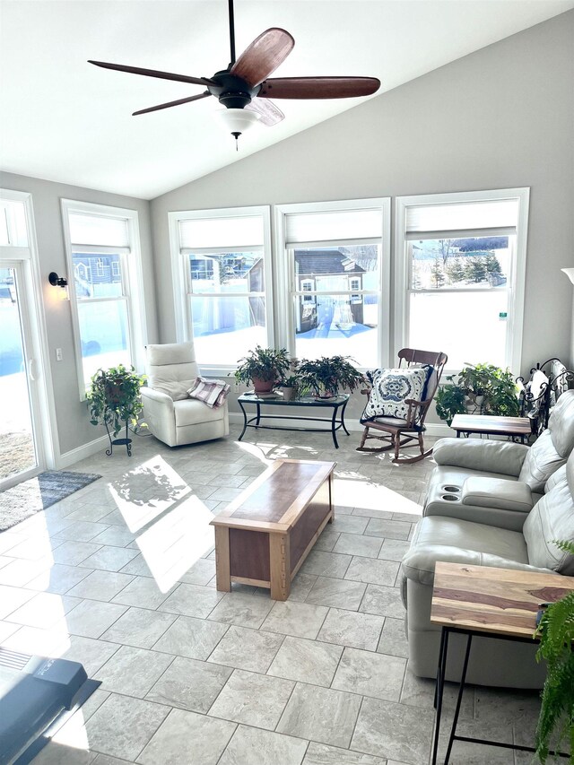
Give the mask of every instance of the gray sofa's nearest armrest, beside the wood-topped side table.
M 425 547 L 415 546 L 406 553 L 401 563 L 403 576 L 422 585 L 432 587 L 434 583 L 434 567 L 437 561 L 465 563 L 473 566 L 489 566 L 498 569 L 536 571 L 541 574 L 556 573 L 555 571 L 552 572 L 551 569 L 540 569 L 528 563 L 510 561 L 487 552 L 463 550 L 460 547 L 451 547 L 448 544 L 432 544 Z

